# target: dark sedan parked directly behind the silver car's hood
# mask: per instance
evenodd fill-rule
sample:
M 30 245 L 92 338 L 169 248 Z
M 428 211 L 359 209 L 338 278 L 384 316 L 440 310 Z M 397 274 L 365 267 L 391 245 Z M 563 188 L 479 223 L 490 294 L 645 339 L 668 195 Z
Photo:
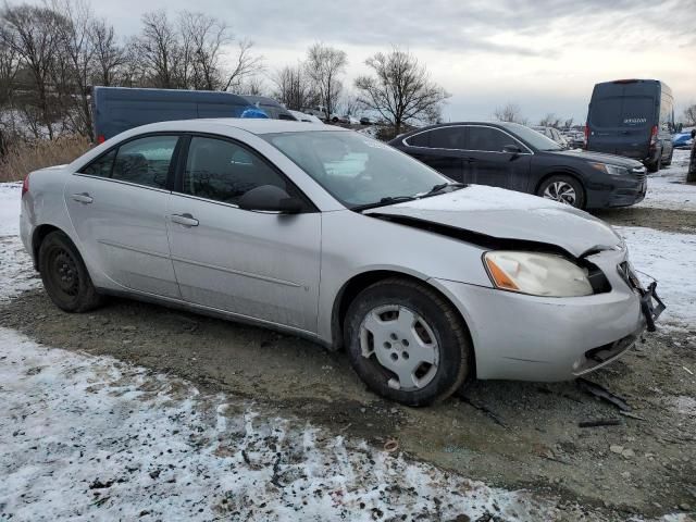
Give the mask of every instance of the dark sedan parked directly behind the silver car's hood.
M 389 145 L 467 184 L 535 194 L 579 209 L 645 198 L 645 167 L 612 154 L 563 150 L 517 123 L 462 122 L 412 130 Z

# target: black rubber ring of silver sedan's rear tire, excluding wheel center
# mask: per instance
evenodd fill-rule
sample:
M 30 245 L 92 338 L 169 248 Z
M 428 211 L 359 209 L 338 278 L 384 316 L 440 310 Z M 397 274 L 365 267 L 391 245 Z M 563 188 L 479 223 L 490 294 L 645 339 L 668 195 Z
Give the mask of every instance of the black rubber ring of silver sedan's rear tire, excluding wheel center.
M 66 298 L 62 293 L 55 291 L 53 288 L 53 282 L 49 277 L 49 272 L 54 270 L 50 266 L 52 250 L 61 249 L 67 252 L 77 271 L 78 289 L 77 294 L 73 298 Z M 87 268 L 83 262 L 82 256 L 73 245 L 73 241 L 61 232 L 52 232 L 41 243 L 39 248 L 39 272 L 41 274 L 41 281 L 44 282 L 44 288 L 53 303 L 66 312 L 79 312 L 87 308 L 91 308 L 91 300 L 95 295 L 95 287 L 87 272 Z

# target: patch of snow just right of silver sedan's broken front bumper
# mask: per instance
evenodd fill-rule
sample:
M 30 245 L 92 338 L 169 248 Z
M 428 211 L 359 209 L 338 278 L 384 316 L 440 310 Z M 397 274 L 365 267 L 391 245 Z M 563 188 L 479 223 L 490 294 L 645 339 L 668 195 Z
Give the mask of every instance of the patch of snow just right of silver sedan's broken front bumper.
M 696 324 L 696 235 L 614 226 L 629 246 L 629 257 L 643 283 L 658 281 L 657 293 L 667 310 L 659 323 Z M 659 324 L 658 323 L 658 324 Z M 679 324 L 675 324 L 679 323 Z

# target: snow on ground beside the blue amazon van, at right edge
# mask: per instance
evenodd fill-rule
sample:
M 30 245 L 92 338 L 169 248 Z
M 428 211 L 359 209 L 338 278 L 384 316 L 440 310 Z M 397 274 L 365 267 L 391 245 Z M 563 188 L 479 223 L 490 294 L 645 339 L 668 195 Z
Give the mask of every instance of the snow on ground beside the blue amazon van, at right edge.
M 696 212 L 696 185 L 685 183 L 689 154 L 691 150 L 674 149 L 672 164 L 648 175 L 648 191 L 636 207 Z

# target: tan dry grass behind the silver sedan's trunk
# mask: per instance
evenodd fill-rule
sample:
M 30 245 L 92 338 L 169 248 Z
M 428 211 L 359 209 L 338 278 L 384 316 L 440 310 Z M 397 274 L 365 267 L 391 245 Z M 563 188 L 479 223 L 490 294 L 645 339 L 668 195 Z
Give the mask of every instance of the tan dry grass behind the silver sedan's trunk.
M 32 171 L 70 163 L 91 147 L 85 136 L 64 136 L 10 147 L 0 159 L 0 182 L 18 182 Z

